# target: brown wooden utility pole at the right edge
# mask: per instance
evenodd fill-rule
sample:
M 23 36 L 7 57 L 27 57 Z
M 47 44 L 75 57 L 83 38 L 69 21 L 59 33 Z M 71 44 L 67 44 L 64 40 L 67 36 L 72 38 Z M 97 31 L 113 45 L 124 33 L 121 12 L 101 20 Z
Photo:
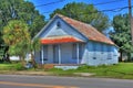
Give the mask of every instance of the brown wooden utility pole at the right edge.
M 130 19 L 130 25 L 131 25 L 131 37 L 132 37 L 132 44 L 133 44 L 133 16 L 132 16 L 132 6 L 131 6 L 131 0 L 129 0 L 129 19 Z

